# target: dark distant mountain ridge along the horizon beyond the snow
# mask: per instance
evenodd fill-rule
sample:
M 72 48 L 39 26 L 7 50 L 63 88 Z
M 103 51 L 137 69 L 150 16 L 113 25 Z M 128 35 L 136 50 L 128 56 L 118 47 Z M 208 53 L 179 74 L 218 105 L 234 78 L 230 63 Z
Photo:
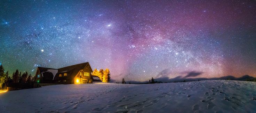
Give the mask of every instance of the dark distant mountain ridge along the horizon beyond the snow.
M 215 77 L 215 78 L 184 78 L 182 76 L 177 76 L 175 78 L 168 78 L 168 77 L 161 77 L 161 78 L 155 78 L 155 81 L 161 81 L 163 83 L 167 82 L 189 82 L 189 81 L 205 81 L 205 80 L 235 80 L 235 81 L 248 81 L 248 80 L 253 80 L 256 79 L 256 77 L 249 76 L 249 75 L 244 75 L 242 77 L 234 77 L 232 75 L 228 76 L 223 76 L 223 77 Z M 144 82 L 138 82 L 138 81 L 127 81 L 126 83 L 132 83 L 132 84 L 145 84 L 148 83 L 149 81 L 144 81 Z

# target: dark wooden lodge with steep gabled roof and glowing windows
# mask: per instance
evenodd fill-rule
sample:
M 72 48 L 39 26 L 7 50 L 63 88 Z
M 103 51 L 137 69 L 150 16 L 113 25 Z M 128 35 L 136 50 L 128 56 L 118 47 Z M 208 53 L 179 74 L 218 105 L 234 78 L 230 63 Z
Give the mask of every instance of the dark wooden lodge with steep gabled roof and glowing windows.
M 59 69 L 37 67 L 35 82 L 54 84 L 86 84 L 101 82 L 97 76 L 91 75 L 90 64 L 81 63 Z

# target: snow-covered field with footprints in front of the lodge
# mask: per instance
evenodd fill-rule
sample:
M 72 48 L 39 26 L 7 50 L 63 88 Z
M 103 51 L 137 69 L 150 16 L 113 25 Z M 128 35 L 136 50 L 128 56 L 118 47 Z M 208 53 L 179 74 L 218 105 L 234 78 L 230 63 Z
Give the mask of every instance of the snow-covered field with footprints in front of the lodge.
M 256 82 L 51 85 L 0 93 L 5 112 L 256 113 Z

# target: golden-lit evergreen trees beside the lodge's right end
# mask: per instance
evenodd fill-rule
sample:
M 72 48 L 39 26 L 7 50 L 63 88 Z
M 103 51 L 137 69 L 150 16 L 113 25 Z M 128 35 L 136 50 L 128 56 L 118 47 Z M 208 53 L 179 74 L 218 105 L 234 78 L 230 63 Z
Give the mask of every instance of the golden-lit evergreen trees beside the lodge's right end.
M 110 70 L 108 68 L 106 68 L 105 70 L 97 70 L 95 68 L 92 75 L 98 76 L 102 82 L 110 82 Z

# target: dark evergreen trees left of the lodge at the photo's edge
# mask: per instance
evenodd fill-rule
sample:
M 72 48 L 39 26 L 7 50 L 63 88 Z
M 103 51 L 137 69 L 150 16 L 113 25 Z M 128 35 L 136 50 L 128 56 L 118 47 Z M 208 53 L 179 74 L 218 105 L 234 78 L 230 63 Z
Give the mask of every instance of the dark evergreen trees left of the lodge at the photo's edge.
M 5 73 L 3 65 L 0 65 L 0 88 L 2 88 L 5 83 L 31 83 L 33 82 L 33 79 L 34 77 L 32 77 L 31 74 L 28 74 L 27 72 L 22 74 L 18 69 L 16 69 L 16 71 L 13 72 L 12 77 L 10 77 L 9 71 Z

